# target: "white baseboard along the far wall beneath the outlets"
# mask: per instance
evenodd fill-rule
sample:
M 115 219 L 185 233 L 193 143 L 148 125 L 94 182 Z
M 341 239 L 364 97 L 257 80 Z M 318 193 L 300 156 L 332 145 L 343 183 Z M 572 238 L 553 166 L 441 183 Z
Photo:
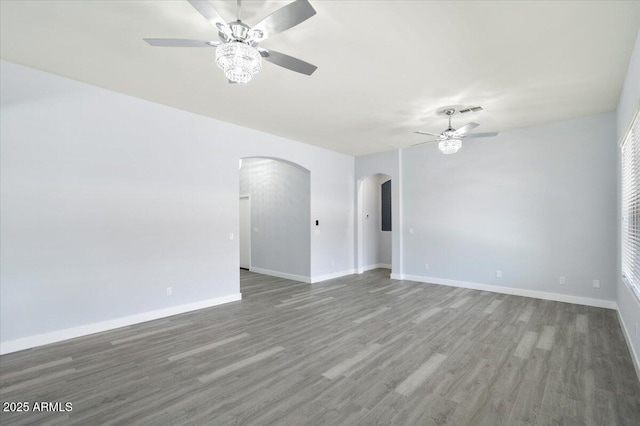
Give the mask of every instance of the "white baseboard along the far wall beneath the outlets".
M 396 278 L 397 277 L 397 278 Z M 596 308 L 617 309 L 615 300 L 591 299 L 588 297 L 572 296 L 569 294 L 548 293 L 546 291 L 527 290 L 522 288 L 502 287 L 492 284 L 479 284 L 468 281 L 447 280 L 444 278 L 423 277 L 420 275 L 397 275 L 391 278 L 399 280 L 418 281 L 430 284 L 448 285 L 452 287 L 470 288 L 473 290 L 491 291 L 493 293 L 511 294 L 514 296 L 533 297 L 536 299 L 553 300 L 555 302 L 574 303 L 576 305 L 594 306 Z

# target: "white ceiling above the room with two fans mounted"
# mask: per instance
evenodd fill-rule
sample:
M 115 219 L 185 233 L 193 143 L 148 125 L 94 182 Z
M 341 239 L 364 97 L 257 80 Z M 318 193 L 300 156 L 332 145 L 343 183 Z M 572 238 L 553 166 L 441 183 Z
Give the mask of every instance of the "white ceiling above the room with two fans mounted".
M 322 1 L 261 46 L 318 66 L 270 63 L 230 85 L 214 49 L 143 38 L 217 40 L 189 3 L 0 1 L 0 57 L 99 87 L 334 151 L 407 147 L 454 117 L 478 132 L 613 111 L 640 27 L 638 1 Z M 288 1 L 243 1 L 254 25 Z M 235 2 L 212 0 L 229 21 Z

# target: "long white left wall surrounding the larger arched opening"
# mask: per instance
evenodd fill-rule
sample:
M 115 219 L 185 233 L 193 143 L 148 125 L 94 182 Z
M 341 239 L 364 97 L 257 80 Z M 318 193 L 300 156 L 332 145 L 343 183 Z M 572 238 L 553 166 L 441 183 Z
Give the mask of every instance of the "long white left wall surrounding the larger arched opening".
M 353 157 L 4 61 L 0 78 L 3 352 L 238 295 L 243 157 L 310 170 L 312 279 L 353 270 Z

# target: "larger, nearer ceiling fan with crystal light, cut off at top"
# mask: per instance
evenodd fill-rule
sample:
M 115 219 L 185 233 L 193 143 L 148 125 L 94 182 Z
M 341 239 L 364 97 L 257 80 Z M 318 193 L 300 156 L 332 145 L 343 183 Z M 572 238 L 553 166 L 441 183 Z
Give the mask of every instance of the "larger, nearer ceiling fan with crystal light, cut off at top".
M 288 30 L 316 14 L 307 0 L 296 0 L 273 12 L 253 27 L 240 19 L 241 0 L 237 0 L 237 20 L 225 22 L 207 0 L 189 3 L 218 30 L 220 41 L 200 41 L 173 38 L 145 38 L 151 46 L 215 47 L 216 63 L 229 83 L 248 83 L 262 69 L 261 58 L 283 68 L 311 75 L 317 69 L 300 59 L 275 50 L 258 47 L 268 37 Z

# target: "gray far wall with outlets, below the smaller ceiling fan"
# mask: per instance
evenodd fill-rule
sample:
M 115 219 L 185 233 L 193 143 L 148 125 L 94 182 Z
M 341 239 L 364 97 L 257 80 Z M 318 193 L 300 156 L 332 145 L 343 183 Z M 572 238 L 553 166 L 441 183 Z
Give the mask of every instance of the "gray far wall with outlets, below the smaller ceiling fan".
M 615 300 L 614 135 L 609 113 L 404 150 L 404 274 Z

